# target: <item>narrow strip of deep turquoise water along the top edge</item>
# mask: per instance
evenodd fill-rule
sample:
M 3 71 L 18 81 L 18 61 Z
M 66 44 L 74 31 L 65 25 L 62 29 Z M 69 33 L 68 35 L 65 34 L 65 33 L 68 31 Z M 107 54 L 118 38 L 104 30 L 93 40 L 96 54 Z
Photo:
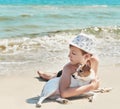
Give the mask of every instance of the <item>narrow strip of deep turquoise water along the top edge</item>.
M 0 4 L 119 5 L 119 0 L 0 0 Z

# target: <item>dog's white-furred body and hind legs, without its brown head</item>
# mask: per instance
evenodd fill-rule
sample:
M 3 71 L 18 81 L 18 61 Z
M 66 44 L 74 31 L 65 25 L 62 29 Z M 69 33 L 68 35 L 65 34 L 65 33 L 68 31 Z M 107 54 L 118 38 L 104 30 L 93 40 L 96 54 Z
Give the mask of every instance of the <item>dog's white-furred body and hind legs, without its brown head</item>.
M 77 86 L 83 86 L 83 85 L 89 84 L 90 81 L 94 78 L 95 78 L 95 73 L 93 70 L 91 70 L 91 73 L 88 77 L 78 77 L 75 79 L 71 76 L 70 87 L 77 87 Z M 46 98 L 50 98 L 50 97 L 54 97 L 56 101 L 61 103 L 68 102 L 68 99 L 60 98 L 59 93 L 57 93 L 59 91 L 59 80 L 60 80 L 60 77 L 55 77 L 53 79 L 50 79 L 44 85 L 40 98 L 36 104 L 36 107 L 41 107 L 42 102 Z

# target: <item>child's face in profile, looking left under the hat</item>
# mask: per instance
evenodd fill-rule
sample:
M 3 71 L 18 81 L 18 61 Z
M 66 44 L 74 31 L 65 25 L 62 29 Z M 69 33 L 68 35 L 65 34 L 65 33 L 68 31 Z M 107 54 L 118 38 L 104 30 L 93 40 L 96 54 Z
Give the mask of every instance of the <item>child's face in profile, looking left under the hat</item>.
M 82 50 L 77 47 L 70 46 L 69 59 L 71 64 L 85 64 L 86 63 L 86 54 L 82 54 Z

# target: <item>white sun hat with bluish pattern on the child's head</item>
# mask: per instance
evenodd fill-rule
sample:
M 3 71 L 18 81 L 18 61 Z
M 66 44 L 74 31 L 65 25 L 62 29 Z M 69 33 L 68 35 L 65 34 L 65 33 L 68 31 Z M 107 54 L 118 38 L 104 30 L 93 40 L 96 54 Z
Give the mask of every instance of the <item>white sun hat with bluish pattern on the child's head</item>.
M 71 40 L 69 44 L 80 48 L 87 53 L 95 54 L 95 37 L 92 35 L 82 33 Z

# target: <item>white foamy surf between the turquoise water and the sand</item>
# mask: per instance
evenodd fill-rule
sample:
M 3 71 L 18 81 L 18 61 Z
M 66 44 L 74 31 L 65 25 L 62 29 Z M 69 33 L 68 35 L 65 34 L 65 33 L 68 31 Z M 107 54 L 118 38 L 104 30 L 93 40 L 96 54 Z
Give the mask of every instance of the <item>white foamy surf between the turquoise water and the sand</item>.
M 40 62 L 49 63 L 58 60 L 60 63 L 62 60 L 66 61 L 70 39 L 81 32 L 96 36 L 96 55 L 100 58 L 109 57 L 110 59 L 117 57 L 116 60 L 113 60 L 118 63 L 120 27 L 89 27 L 1 38 L 0 65 L 3 66 L 3 69 L 8 69 L 8 67 L 13 68 L 14 65 L 20 67 L 31 63 L 36 65 Z

